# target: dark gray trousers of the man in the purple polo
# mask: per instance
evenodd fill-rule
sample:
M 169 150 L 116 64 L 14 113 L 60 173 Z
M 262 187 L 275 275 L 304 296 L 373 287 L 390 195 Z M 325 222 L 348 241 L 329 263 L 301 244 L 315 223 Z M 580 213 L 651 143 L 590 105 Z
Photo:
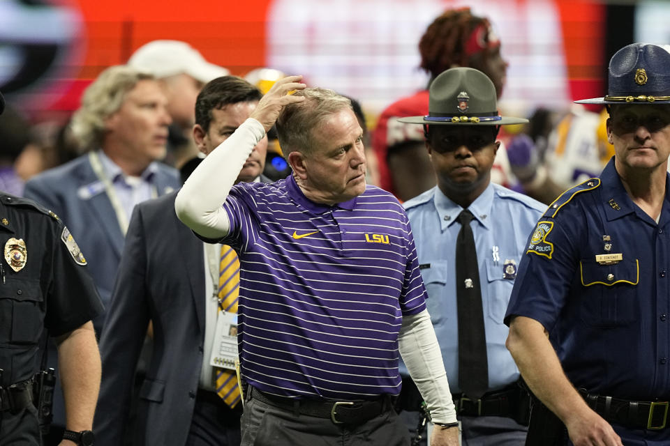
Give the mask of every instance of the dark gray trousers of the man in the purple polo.
M 408 446 L 410 436 L 394 410 L 359 426 L 292 411 L 251 399 L 244 403 L 241 446 Z

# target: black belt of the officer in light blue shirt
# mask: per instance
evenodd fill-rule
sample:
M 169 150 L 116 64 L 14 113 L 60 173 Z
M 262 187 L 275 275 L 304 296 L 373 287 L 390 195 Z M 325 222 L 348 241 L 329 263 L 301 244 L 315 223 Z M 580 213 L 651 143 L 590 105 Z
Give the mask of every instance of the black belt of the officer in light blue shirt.
M 479 399 L 470 399 L 463 394 L 452 395 L 456 413 L 466 417 L 516 417 L 521 404 L 521 388 L 514 386 L 488 392 Z

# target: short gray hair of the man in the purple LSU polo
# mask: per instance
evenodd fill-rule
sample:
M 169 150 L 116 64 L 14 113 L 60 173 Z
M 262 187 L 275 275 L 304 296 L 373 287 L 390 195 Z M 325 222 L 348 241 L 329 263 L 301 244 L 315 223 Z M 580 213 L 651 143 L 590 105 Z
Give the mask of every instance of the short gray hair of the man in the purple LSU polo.
M 328 89 L 304 89 L 295 93 L 305 100 L 286 105 L 277 119 L 279 144 L 285 155 L 300 152 L 306 155 L 313 150 L 312 131 L 328 116 L 343 109 L 352 110 L 351 100 Z

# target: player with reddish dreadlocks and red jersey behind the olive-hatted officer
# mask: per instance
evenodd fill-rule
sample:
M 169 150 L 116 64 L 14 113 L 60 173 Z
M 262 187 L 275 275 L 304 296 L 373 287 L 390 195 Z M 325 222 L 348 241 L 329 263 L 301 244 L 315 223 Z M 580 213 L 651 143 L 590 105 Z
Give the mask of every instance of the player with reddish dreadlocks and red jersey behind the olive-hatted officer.
M 470 8 L 446 10 L 437 17 L 422 36 L 419 52 L 421 68 L 431 75 L 431 82 L 449 68 L 476 68 L 491 78 L 500 98 L 507 72 L 507 61 L 500 54 L 500 40 L 493 33 L 489 20 L 472 15 Z M 398 121 L 398 118 L 421 114 L 428 114 L 428 86 L 389 105 L 380 115 L 373 134 L 380 187 L 401 201 L 416 197 L 435 185 L 422 129 Z M 505 151 L 498 151 L 491 180 L 509 186 L 509 176 Z

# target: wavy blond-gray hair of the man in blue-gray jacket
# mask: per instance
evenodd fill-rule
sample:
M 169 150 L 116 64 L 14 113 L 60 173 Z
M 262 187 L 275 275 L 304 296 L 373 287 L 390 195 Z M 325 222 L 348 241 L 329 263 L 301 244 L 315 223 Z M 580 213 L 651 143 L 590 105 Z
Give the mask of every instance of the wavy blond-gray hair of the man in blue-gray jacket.
M 82 105 L 70 123 L 73 135 L 84 150 L 97 148 L 103 143 L 105 120 L 119 111 L 126 93 L 145 79 L 154 79 L 154 75 L 119 65 L 106 68 L 88 86 L 82 96 Z

